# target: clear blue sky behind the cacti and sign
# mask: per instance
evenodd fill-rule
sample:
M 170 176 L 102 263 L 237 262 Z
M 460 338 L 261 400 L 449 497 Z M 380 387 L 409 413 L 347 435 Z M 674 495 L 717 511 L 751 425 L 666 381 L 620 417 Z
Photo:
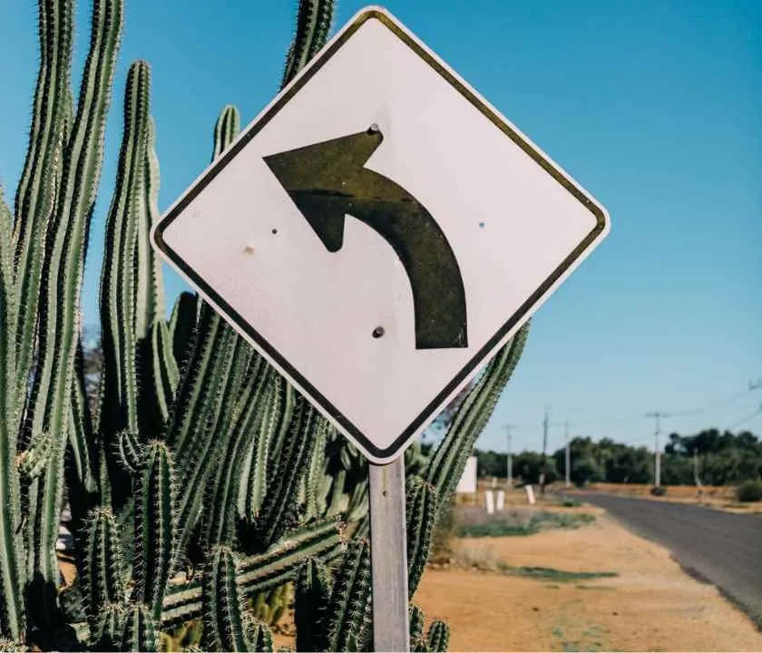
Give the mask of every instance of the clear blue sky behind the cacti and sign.
M 13 195 L 37 65 L 34 3 L 0 10 L 0 180 Z M 97 319 L 103 214 L 127 66 L 152 66 L 161 208 L 204 168 L 220 108 L 249 122 L 277 91 L 295 3 L 129 0 L 84 316 Z M 337 26 L 362 6 L 339 4 Z M 572 434 L 652 443 L 646 411 L 688 411 L 762 377 L 762 3 L 507 0 L 386 5 L 581 182 L 611 236 L 537 314 L 479 446 L 538 448 L 544 406 Z M 89 3 L 79 3 L 82 61 Z M 78 75 L 77 75 L 78 77 Z M 181 282 L 167 275 L 170 297 Z M 665 429 L 738 422 L 742 392 Z M 620 420 L 620 424 L 601 424 Z M 590 424 L 597 422 L 598 424 Z M 585 424 L 588 423 L 588 424 Z M 762 434 L 762 417 L 744 424 Z M 550 447 L 562 442 L 553 426 Z

